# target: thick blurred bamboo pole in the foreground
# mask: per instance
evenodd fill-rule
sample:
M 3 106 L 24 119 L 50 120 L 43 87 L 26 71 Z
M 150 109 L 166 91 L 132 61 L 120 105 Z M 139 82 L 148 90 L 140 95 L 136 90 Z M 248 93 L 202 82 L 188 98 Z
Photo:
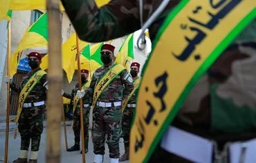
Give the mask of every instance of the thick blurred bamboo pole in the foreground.
M 46 162 L 60 163 L 62 121 L 62 49 L 59 0 L 47 0 L 48 81 Z

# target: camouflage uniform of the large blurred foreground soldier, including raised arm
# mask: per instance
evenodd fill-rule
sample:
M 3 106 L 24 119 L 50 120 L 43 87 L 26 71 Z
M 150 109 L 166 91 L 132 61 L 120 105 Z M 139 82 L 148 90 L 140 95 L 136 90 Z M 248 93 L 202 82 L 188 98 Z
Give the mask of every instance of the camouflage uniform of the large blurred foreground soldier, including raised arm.
M 161 0 L 143 1 L 143 22 L 149 19 L 161 3 Z M 150 25 L 149 35 L 152 41 L 167 14 L 178 3 L 179 0 L 170 1 Z M 83 41 L 107 41 L 140 29 L 138 0 L 113 0 L 102 8 L 98 8 L 93 0 L 62 0 L 62 4 Z M 194 86 L 172 125 L 181 131 L 200 135 L 206 140 L 215 140 L 219 149 L 223 149 L 223 144 L 229 141 L 252 139 L 255 142 L 255 31 L 254 19 Z M 180 145 L 186 146 L 186 144 Z M 183 156 L 165 151 L 160 144 L 149 160 L 149 162 L 170 161 L 190 162 Z

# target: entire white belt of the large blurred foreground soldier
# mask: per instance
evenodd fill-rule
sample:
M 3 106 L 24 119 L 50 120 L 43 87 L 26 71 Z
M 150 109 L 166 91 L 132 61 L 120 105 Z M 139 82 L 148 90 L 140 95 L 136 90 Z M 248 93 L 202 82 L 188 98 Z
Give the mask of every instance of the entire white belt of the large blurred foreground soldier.
M 250 163 L 256 160 L 256 138 L 245 142 L 228 142 L 220 153 L 217 150 L 217 143 L 213 140 L 176 127 L 169 127 L 163 137 L 161 147 L 186 160 L 198 163 L 212 163 L 213 153 L 215 161 L 230 160 L 230 163 Z

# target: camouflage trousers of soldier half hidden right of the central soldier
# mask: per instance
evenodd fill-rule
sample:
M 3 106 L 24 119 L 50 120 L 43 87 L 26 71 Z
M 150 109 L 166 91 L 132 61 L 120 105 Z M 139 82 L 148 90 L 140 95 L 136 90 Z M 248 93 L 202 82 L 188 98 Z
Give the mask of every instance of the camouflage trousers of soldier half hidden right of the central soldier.
M 134 109 L 134 107 L 126 107 L 122 114 L 122 138 L 124 139 L 126 148 L 129 147 L 131 122 L 134 116 Z

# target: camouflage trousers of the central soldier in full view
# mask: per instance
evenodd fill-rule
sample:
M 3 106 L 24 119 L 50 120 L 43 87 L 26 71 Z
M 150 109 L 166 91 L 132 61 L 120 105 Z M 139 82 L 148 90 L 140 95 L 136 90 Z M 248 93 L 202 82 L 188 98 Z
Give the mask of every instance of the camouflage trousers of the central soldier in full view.
M 93 152 L 96 155 L 104 155 L 104 142 L 107 135 L 109 157 L 119 158 L 119 139 L 122 134 L 122 110 L 121 106 L 99 107 L 93 109 Z

